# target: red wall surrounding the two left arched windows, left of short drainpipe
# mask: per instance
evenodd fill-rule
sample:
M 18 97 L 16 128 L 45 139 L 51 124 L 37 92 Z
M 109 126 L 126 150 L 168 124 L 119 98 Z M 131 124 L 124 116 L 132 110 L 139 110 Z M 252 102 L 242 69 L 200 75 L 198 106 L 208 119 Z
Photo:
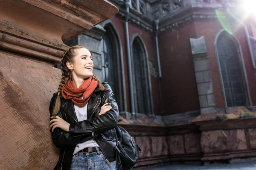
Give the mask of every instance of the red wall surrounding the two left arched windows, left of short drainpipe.
M 128 111 L 131 112 L 131 99 L 130 99 L 130 88 L 129 88 L 129 76 L 128 76 L 128 60 L 127 60 L 127 49 L 126 49 L 126 39 L 125 39 L 125 21 L 119 17 L 112 17 L 111 18 L 114 26 L 118 30 L 119 36 L 122 41 L 122 50 L 123 50 L 123 60 L 124 60 L 124 69 L 125 69 L 125 88 L 126 88 L 126 97 L 127 97 L 127 108 Z M 135 34 L 139 33 L 140 37 L 143 39 L 145 46 L 148 52 L 148 59 L 154 62 L 154 65 L 157 66 L 157 57 L 155 51 L 155 43 L 154 43 L 154 35 L 148 33 L 147 31 L 143 31 L 142 29 L 138 28 L 137 26 L 132 25 L 131 23 L 128 24 L 129 27 L 129 38 Z M 157 69 L 157 68 L 156 68 Z M 159 83 L 158 77 L 151 76 L 151 86 L 152 86 L 152 95 L 153 95 L 153 102 L 154 102 L 154 113 L 155 115 L 160 115 L 160 93 L 159 93 Z

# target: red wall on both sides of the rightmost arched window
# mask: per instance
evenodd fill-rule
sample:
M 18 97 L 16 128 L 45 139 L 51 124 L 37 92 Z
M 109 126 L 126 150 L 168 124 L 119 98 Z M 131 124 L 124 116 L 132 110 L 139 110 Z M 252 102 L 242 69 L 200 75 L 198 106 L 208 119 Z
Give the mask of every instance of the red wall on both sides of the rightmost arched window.
M 254 70 L 251 64 L 249 48 L 247 40 L 244 34 L 244 29 L 237 23 L 231 23 L 231 28 L 234 36 L 239 40 L 241 44 L 244 64 L 247 72 L 248 83 L 250 88 L 250 95 L 253 105 L 256 105 L 256 79 Z M 214 40 L 219 31 L 223 28 L 218 20 L 214 21 L 197 21 L 195 22 L 196 37 L 205 37 L 207 44 L 207 50 L 210 61 L 210 69 L 213 83 L 213 90 L 215 94 L 215 101 L 217 108 L 224 108 L 224 99 L 221 91 L 221 82 L 219 77 L 218 65 L 215 56 Z

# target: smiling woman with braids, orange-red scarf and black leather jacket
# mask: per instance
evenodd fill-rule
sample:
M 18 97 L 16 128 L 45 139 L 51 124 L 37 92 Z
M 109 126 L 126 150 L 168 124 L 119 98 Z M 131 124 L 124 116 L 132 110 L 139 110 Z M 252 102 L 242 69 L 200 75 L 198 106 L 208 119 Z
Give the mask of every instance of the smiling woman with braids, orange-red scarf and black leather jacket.
M 76 45 L 61 59 L 61 83 L 49 105 L 55 170 L 116 170 L 118 106 L 108 83 L 93 75 L 90 51 Z

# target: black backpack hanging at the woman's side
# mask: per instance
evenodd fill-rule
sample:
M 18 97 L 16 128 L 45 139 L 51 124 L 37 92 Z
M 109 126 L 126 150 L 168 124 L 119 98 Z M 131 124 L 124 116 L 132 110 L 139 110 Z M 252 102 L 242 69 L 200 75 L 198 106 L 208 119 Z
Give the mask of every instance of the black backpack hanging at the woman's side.
M 116 126 L 116 165 L 118 170 L 131 170 L 141 151 L 133 137 L 122 127 Z

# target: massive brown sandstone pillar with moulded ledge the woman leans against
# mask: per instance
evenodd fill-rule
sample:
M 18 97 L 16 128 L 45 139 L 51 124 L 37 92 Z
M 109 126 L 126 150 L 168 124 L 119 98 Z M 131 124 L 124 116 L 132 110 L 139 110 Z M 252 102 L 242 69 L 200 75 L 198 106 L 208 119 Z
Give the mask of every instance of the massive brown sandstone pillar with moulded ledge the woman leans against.
M 0 170 L 55 167 L 49 103 L 61 70 L 53 66 L 64 42 L 117 11 L 107 0 L 0 0 Z

